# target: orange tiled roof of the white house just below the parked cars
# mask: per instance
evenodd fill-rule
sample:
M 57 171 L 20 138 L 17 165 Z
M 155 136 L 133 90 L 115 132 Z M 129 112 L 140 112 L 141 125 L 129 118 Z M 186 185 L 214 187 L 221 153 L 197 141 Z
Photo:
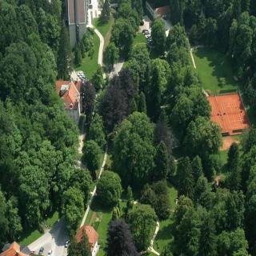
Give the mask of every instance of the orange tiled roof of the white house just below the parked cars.
M 81 90 L 82 83 L 58 80 L 55 82 L 56 92 L 62 98 L 66 110 L 76 109 L 78 107 L 78 94 Z M 62 92 L 62 86 L 66 86 L 66 90 Z

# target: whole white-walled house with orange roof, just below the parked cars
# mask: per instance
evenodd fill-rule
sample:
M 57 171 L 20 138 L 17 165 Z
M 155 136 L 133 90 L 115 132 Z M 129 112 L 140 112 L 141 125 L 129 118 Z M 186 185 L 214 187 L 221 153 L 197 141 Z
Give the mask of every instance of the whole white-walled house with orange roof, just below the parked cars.
M 78 125 L 82 106 L 82 97 L 80 97 L 82 82 L 58 80 L 55 82 L 55 88 L 59 97 L 62 98 L 66 113 Z

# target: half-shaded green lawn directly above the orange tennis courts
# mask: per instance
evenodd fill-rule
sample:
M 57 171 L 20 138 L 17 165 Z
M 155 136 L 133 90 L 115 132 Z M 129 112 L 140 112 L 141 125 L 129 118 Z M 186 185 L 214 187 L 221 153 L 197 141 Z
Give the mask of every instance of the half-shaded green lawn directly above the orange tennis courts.
M 234 81 L 226 55 L 211 48 L 198 48 L 194 51 L 194 61 L 204 89 L 211 90 L 212 93 L 218 93 L 219 90 L 238 90 L 238 82 Z

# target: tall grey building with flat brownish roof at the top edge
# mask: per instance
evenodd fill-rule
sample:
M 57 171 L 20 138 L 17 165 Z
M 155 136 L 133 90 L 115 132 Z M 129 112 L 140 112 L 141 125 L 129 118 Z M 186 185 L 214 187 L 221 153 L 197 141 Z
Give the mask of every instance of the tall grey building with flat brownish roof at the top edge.
M 70 46 L 74 46 L 86 33 L 88 6 L 90 0 L 66 0 L 67 22 L 70 34 Z

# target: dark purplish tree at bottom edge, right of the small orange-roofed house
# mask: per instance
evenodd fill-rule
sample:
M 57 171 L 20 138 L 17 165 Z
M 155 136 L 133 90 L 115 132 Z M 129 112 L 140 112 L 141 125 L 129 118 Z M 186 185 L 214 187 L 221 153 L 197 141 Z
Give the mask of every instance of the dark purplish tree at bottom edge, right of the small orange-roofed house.
M 123 220 L 110 222 L 106 241 L 107 256 L 138 256 L 129 226 Z

